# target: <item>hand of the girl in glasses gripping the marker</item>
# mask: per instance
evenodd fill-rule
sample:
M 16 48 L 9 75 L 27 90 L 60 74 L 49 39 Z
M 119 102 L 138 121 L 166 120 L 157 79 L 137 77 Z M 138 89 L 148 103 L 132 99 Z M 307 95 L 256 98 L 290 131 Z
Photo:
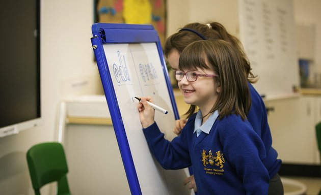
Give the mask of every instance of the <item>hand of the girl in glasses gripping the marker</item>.
M 154 123 L 155 110 L 147 104 L 147 101 L 153 102 L 150 96 L 142 97 L 137 107 L 143 128 Z

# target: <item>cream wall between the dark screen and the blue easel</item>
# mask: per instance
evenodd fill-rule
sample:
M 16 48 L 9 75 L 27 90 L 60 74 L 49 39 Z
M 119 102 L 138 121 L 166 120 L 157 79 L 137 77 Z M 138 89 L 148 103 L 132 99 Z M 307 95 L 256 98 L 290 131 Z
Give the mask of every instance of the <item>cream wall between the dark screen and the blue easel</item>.
M 57 140 L 61 100 L 101 93 L 90 42 L 92 23 L 93 1 L 41 1 L 43 125 L 0 139 L 0 194 L 33 194 L 25 152 L 36 143 Z

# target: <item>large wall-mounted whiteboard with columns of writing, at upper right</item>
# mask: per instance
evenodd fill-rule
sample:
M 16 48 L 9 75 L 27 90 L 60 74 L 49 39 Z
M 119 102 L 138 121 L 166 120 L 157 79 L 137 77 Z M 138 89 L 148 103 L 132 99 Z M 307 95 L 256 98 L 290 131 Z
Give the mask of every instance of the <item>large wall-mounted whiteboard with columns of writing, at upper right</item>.
M 300 86 L 292 0 L 239 0 L 240 39 L 266 98 L 296 96 Z

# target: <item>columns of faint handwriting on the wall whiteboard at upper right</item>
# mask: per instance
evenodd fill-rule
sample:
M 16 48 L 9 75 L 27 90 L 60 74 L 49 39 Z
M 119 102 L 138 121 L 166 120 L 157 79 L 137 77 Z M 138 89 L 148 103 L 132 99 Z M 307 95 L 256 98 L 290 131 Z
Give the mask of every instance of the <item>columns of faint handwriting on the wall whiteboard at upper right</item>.
M 288 23 L 287 9 L 273 5 L 268 1 L 244 2 L 245 34 L 248 35 L 245 46 L 253 66 L 259 66 L 255 60 L 258 54 L 257 45 L 261 42 L 265 49 L 265 58 L 272 59 L 279 52 L 288 52 Z

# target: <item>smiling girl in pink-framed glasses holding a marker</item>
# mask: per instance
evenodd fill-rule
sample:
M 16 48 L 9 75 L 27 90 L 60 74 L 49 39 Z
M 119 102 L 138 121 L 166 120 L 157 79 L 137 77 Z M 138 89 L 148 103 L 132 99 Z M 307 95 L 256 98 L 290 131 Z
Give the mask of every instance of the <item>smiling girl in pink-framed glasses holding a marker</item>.
M 165 169 L 192 166 L 199 194 L 268 194 L 264 144 L 246 115 L 251 98 L 240 52 L 223 40 L 197 41 L 186 47 L 176 71 L 190 109 L 181 134 L 171 142 L 142 98 L 138 105 L 150 151 Z M 195 107 L 194 107 L 195 108 Z

